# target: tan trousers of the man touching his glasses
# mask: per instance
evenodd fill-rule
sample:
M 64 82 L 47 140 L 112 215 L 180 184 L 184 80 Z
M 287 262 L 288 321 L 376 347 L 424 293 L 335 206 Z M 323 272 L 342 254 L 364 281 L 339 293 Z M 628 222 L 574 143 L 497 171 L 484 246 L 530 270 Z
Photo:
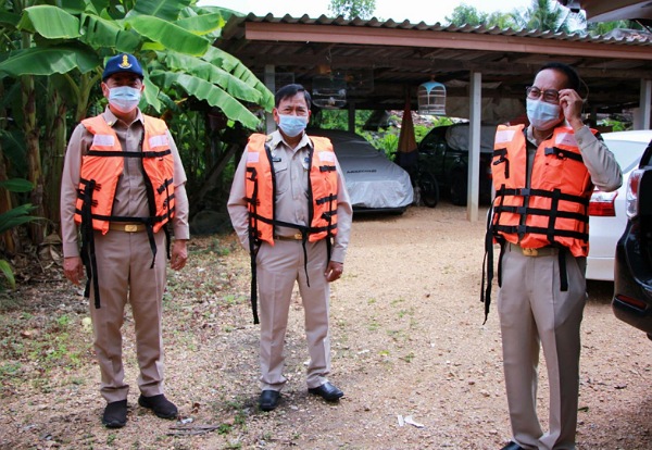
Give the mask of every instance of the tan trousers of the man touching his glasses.
M 574 449 L 586 259 L 567 252 L 568 290 L 561 291 L 557 254 L 526 257 L 506 246 L 498 312 L 513 439 L 526 449 Z M 537 417 L 539 345 L 550 384 L 546 434 Z

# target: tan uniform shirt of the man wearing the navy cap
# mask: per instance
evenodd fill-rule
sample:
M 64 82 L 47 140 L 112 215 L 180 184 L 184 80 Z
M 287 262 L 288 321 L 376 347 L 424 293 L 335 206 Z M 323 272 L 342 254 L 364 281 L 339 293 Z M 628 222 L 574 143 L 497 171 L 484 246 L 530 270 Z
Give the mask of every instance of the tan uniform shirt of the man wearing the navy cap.
M 106 123 L 115 130 L 123 150 L 142 150 L 140 148 L 140 140 L 145 129 L 142 126 L 142 113 L 140 111 L 138 111 L 138 116 L 131 124 L 125 124 L 120 121 L 109 108 L 106 108 L 102 115 Z M 185 187 L 186 172 L 184 171 L 179 152 L 170 132 L 167 132 L 167 135 L 174 157 L 175 216 L 172 220 L 172 226 L 174 236 L 177 239 L 188 239 L 190 237 L 190 228 L 188 226 L 188 197 Z M 75 204 L 79 187 L 82 157 L 88 152 L 92 139 L 92 134 L 84 125 L 77 125 L 71 136 L 65 153 L 64 172 L 61 177 L 61 236 L 65 258 L 79 255 L 77 227 L 74 221 Z M 115 191 L 113 214 L 116 216 L 149 216 L 147 190 L 140 161 L 137 158 L 125 158 L 124 160 L 123 175 L 117 183 Z

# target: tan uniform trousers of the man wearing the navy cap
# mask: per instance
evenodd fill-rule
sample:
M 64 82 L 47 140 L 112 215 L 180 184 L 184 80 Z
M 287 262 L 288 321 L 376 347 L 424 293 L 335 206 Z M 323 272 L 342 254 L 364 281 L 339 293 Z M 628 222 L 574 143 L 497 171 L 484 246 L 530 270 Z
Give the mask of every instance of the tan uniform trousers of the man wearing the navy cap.
M 129 386 L 125 383 L 122 361 L 122 333 L 125 304 L 131 305 L 136 329 L 136 354 L 140 375 L 138 387 L 143 396 L 163 393 L 163 340 L 161 303 L 165 289 L 165 234 L 156 233 L 156 261 L 147 232 L 109 230 L 95 234 L 100 309 L 95 307 L 90 288 L 90 316 L 93 347 L 101 372 L 100 392 L 106 402 L 125 400 Z

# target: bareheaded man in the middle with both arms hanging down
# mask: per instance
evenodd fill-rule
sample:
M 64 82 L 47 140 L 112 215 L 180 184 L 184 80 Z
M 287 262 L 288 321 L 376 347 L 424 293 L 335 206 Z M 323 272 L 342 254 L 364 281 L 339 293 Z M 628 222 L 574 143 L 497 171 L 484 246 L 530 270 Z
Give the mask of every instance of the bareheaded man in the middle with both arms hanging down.
M 286 383 L 284 340 L 294 283 L 305 311 L 308 390 L 327 401 L 343 392 L 328 382 L 329 283 L 343 270 L 352 210 L 330 141 L 310 138 L 310 93 L 301 85 L 276 92 L 278 130 L 253 135 L 234 176 L 228 211 L 254 259 L 261 308 L 260 408 L 274 410 Z M 255 305 L 255 286 L 252 298 Z M 254 322 L 256 322 L 254 308 Z

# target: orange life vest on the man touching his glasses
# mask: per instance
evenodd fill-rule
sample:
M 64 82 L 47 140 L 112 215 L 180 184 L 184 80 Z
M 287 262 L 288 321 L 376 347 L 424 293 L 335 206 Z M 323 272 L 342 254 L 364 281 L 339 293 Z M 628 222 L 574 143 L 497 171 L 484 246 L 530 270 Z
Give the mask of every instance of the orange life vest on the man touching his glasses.
M 593 184 L 573 129 L 555 128 L 552 137 L 539 145 L 526 188 L 523 128 L 499 125 L 496 134 L 491 165 L 496 187 L 493 236 L 523 248 L 563 247 L 575 257 L 586 257 Z

